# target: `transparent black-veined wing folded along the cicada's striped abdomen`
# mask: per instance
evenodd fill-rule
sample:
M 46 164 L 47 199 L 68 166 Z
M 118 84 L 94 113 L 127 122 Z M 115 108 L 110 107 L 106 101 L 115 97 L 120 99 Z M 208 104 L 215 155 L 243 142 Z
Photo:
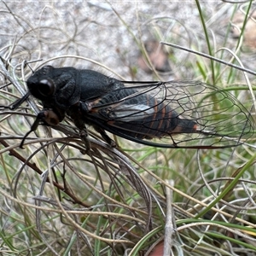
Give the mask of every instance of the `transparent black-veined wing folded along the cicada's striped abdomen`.
M 163 148 L 224 148 L 253 135 L 229 92 L 195 81 L 137 84 L 90 102 L 90 119 L 120 137 Z

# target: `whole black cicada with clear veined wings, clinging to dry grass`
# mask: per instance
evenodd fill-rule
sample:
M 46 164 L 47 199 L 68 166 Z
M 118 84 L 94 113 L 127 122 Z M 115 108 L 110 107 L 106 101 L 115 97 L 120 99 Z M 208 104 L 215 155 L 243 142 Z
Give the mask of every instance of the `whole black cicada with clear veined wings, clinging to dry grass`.
M 125 82 L 45 66 L 26 84 L 44 107 L 31 131 L 40 123 L 58 125 L 67 114 L 81 135 L 85 124 L 92 125 L 112 145 L 105 131 L 161 148 L 232 147 L 253 134 L 246 108 L 229 92 L 201 82 Z

